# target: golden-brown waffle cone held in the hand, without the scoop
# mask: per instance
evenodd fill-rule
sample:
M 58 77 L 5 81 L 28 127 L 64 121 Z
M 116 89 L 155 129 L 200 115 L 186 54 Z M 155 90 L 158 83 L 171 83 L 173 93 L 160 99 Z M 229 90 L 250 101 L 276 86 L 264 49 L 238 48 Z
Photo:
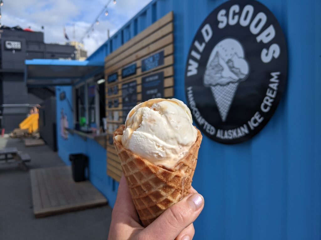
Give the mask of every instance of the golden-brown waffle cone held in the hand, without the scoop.
M 125 125 L 121 125 L 114 132 L 114 145 L 139 218 L 143 226 L 147 227 L 162 212 L 189 193 L 202 134 L 197 129 L 196 142 L 178 162 L 174 171 L 170 171 L 136 155 L 115 140 L 115 136 L 123 135 L 124 129 Z

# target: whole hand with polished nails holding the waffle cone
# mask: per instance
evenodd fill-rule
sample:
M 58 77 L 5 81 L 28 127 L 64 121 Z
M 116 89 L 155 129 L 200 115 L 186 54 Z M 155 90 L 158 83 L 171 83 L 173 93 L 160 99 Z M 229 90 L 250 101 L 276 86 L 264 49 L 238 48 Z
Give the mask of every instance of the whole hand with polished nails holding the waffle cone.
M 148 227 L 139 223 L 132 197 L 124 175 L 111 215 L 109 240 L 191 240 L 195 230 L 193 222 L 202 212 L 204 198 L 191 187 L 190 194 L 163 212 Z

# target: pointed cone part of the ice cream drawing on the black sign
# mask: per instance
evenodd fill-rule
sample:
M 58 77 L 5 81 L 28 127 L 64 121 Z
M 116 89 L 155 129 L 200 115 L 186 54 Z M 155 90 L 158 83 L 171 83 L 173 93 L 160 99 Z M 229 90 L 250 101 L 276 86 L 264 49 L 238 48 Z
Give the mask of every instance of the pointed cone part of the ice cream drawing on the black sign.
M 217 84 L 215 86 L 211 86 L 211 90 L 223 122 L 225 122 L 230 111 L 230 106 L 238 86 L 238 82 L 229 83 L 226 85 Z

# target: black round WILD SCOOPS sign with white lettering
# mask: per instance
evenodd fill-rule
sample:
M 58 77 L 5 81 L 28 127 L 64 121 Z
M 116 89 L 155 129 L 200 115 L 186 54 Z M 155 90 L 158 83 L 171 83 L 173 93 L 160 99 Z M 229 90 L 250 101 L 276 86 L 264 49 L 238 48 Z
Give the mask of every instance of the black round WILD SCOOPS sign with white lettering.
M 204 20 L 185 70 L 187 103 L 199 129 L 235 144 L 270 120 L 287 80 L 287 45 L 269 9 L 231 0 Z

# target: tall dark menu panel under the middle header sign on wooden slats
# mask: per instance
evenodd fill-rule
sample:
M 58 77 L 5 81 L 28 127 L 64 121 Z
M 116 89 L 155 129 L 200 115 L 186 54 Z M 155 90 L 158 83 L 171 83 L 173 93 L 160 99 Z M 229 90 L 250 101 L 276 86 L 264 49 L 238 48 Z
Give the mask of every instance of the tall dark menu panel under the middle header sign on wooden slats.
M 123 103 L 123 119 L 129 111 L 137 104 L 137 83 L 136 80 L 123 84 L 122 86 L 122 103 Z

